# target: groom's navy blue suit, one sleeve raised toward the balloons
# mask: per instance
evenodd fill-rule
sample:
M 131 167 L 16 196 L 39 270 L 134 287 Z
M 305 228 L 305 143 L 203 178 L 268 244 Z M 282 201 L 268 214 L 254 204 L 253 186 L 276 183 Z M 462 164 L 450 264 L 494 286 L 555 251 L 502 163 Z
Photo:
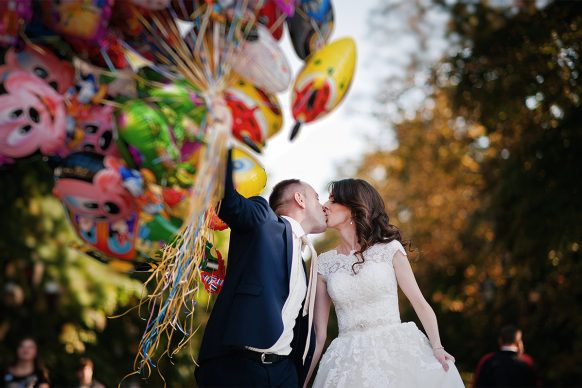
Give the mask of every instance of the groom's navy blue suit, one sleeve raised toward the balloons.
M 247 199 L 235 190 L 230 153 L 227 166 L 218 215 L 231 229 L 228 265 L 198 355 L 200 367 L 196 377 L 201 386 L 215 385 L 210 379 L 216 373 L 249 373 L 245 367 L 248 363 L 225 362 L 221 370 L 221 360 L 237 354 L 243 357 L 239 351 L 248 346 L 268 349 L 275 344 L 283 333 L 281 311 L 289 296 L 293 258 L 291 225 L 278 217 L 264 198 Z M 306 318 L 301 317 L 300 311 L 291 344 L 293 351 L 290 360 L 285 360 L 291 367 L 295 364 L 298 385 L 303 384 L 315 346 L 315 335 L 312 335 L 310 352 L 303 364 Z M 258 367 L 269 367 L 269 373 L 277 373 L 276 365 Z M 237 372 L 237 368 L 245 370 Z

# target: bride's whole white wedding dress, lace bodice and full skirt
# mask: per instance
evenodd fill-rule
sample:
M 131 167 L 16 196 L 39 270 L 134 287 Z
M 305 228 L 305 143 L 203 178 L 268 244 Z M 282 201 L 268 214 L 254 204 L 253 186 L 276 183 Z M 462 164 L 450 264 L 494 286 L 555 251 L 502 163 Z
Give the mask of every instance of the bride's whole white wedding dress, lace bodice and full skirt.
M 319 256 L 318 272 L 335 306 L 339 336 L 323 355 L 314 387 L 464 387 L 452 362 L 445 372 L 428 339 L 413 322 L 401 323 L 394 254 L 398 241 L 364 252 Z

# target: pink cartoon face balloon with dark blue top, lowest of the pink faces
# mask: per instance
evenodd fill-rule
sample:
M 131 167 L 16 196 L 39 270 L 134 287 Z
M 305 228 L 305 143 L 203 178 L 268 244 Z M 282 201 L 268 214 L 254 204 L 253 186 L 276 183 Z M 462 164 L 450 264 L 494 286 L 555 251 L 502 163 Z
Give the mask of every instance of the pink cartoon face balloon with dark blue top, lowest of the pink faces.
M 129 171 L 119 159 L 111 156 L 74 153 L 55 169 L 53 194 L 77 216 L 109 222 L 128 219 L 138 210 L 130 189 L 133 183 L 139 185 L 132 179 L 139 181 L 140 177 L 128 176 L 126 170 Z

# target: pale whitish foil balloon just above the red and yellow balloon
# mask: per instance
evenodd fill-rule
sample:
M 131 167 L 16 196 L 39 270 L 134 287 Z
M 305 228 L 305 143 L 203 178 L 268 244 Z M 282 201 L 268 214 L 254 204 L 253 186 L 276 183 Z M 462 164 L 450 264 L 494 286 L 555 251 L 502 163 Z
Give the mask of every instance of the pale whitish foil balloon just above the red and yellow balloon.
M 267 27 L 257 26 L 258 39 L 243 42 L 233 59 L 233 69 L 268 93 L 287 90 L 291 69 L 285 54 Z

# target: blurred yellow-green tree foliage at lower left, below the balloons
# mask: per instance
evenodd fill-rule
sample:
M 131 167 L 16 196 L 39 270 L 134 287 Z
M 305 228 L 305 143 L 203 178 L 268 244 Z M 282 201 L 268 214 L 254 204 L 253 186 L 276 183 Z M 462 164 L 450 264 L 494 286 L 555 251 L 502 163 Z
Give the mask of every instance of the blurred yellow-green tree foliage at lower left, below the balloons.
M 75 241 L 59 201 L 51 195 L 52 171 L 41 160 L 0 171 L 0 364 L 12 361 L 16 342 L 32 335 L 55 386 L 73 386 L 81 356 L 95 362 L 95 377 L 115 386 L 133 371 L 147 311 L 135 307 L 148 274 L 118 273 L 70 248 Z M 219 238 L 220 241 L 221 238 Z M 196 319 L 207 319 L 201 291 Z M 119 318 L 112 316 L 127 313 Z M 144 317 L 145 315 L 145 317 Z M 195 355 L 203 330 L 191 341 Z M 193 385 L 187 350 L 162 358 L 145 384 Z M 138 380 L 145 376 L 132 376 Z M 127 382 L 127 381 L 126 381 Z

